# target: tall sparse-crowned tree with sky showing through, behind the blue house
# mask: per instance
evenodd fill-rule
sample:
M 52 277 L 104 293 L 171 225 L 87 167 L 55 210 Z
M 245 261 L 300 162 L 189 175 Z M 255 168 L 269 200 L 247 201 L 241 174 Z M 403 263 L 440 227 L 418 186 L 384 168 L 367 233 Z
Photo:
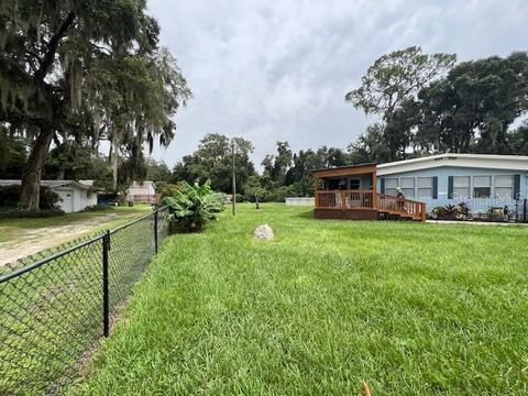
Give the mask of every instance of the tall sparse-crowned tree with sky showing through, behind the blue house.
M 418 91 L 433 79 L 449 70 L 457 59 L 454 54 L 427 55 L 420 47 L 411 46 L 383 55 L 369 67 L 362 77 L 361 87 L 349 91 L 345 100 L 362 109 L 366 114 L 382 117 L 387 127 L 394 124 L 394 117 L 405 101 L 416 97 Z M 402 151 L 397 142 L 405 141 L 400 130 L 389 128 L 384 133 L 388 136 L 389 161 L 398 158 Z

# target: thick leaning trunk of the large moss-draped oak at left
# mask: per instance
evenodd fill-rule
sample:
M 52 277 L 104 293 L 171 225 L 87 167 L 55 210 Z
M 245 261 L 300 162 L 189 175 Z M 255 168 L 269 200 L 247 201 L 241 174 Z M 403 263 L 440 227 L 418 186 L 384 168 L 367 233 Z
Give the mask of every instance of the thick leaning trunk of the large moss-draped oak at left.
M 23 211 L 38 210 L 41 195 L 41 174 L 46 162 L 50 144 L 53 139 L 53 129 L 50 125 L 41 127 L 35 145 L 28 158 L 28 165 L 22 173 L 20 190 L 20 209 Z

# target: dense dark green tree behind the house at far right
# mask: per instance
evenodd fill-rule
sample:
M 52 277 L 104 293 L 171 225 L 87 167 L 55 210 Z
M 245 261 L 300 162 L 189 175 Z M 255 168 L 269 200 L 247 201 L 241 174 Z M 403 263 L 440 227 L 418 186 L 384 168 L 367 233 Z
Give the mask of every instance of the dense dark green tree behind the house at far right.
M 528 53 L 465 62 L 418 95 L 418 141 L 439 151 L 507 154 L 507 130 L 528 109 Z M 427 143 L 426 143 L 427 144 Z

